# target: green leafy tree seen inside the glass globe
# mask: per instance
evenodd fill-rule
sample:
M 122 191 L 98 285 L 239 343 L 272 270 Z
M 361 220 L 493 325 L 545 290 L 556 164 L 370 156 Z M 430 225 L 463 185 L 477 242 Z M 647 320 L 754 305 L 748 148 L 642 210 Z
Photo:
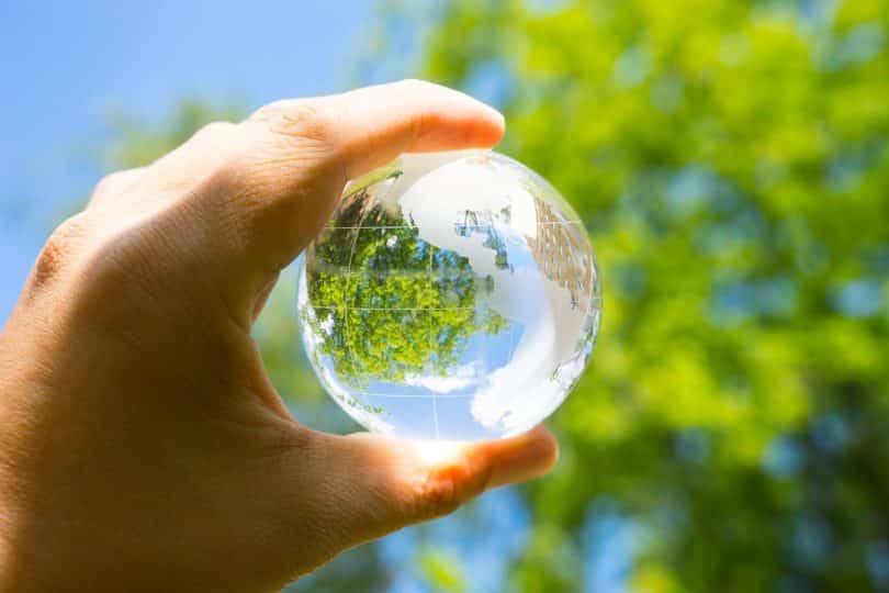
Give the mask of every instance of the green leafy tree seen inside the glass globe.
M 480 279 L 466 257 L 403 226 L 372 190 L 349 193 L 331 224 L 306 254 L 313 307 L 301 315 L 320 338 L 314 356 L 330 357 L 352 387 L 409 373 L 444 376 L 471 336 L 506 327 L 492 309 L 476 307 L 493 279 Z

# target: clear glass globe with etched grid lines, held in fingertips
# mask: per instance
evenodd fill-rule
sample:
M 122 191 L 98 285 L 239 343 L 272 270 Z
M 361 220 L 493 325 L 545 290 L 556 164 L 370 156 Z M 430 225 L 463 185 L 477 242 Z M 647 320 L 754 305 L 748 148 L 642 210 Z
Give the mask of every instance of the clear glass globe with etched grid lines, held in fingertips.
M 336 402 L 367 428 L 522 433 L 586 366 L 601 300 L 577 214 L 487 150 L 405 155 L 350 183 L 305 254 L 299 317 Z

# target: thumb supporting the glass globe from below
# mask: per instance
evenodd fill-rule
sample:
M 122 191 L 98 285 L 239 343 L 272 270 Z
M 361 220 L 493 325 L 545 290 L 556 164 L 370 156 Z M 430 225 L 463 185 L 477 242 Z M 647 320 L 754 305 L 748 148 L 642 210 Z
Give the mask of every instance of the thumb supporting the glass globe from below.
M 543 427 L 474 444 L 405 441 L 360 433 L 319 435 L 326 459 L 316 499 L 341 551 L 407 525 L 447 515 L 483 491 L 548 472 L 559 456 Z M 327 534 L 328 536 L 330 534 Z

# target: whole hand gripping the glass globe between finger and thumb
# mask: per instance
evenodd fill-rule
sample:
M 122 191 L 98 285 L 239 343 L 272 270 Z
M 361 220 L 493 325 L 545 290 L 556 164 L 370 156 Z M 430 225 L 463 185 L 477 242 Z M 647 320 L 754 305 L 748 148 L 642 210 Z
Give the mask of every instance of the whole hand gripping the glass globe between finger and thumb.
M 103 179 L 0 335 L 0 592 L 274 591 L 548 471 L 542 428 L 431 455 L 306 428 L 250 338 L 348 179 L 503 132 L 403 81 L 275 102 Z

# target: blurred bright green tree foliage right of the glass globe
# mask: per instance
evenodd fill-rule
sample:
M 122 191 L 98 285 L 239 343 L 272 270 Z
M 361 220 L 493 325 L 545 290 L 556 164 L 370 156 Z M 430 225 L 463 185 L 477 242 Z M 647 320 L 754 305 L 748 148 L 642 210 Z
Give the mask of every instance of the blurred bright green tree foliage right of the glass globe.
M 579 589 L 534 541 L 605 497 L 634 590 L 889 589 L 889 4 L 533 4 L 446 3 L 419 72 L 494 85 L 605 282 L 514 583 Z

